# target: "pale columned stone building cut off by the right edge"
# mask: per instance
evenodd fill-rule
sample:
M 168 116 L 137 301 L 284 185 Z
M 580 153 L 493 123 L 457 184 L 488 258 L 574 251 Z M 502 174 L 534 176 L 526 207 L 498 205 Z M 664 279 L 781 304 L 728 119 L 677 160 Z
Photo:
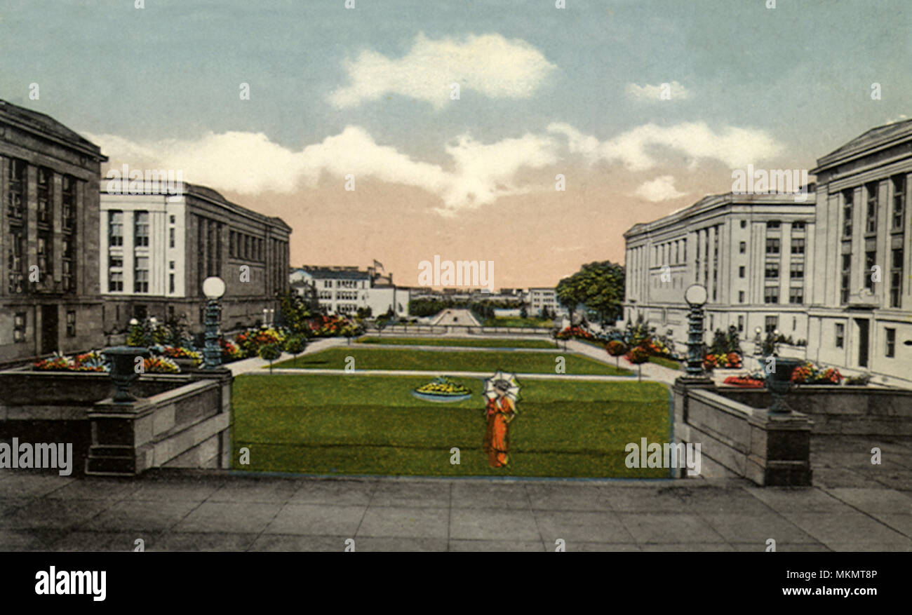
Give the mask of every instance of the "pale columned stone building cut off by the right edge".
M 817 160 L 808 358 L 912 383 L 912 120 Z

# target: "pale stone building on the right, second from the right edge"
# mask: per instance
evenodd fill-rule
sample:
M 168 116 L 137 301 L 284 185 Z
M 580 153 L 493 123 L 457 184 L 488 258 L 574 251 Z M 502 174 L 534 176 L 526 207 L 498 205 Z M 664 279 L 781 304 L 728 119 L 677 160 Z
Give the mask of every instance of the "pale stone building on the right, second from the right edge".
M 814 197 L 794 194 L 707 196 L 664 218 L 635 224 L 626 241 L 623 317 L 642 314 L 658 333 L 687 342 L 684 291 L 707 288 L 707 343 L 730 326 L 808 338 L 814 272 Z M 764 333 L 765 336 L 765 333 Z M 750 350 L 750 346 L 743 348 Z

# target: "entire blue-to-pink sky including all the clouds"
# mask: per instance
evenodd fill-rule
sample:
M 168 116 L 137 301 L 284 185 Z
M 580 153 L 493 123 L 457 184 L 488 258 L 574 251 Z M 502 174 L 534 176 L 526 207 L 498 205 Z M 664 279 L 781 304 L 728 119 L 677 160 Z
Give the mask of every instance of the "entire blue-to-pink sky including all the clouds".
M 907 0 L 347 4 L 5 0 L 0 98 L 281 217 L 293 265 L 507 288 L 912 117 Z

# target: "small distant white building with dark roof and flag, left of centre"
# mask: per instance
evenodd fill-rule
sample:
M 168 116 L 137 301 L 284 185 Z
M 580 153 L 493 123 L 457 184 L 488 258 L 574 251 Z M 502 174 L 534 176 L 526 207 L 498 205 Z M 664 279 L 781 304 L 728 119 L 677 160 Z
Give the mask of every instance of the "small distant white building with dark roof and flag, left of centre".
M 409 289 L 395 286 L 392 275 L 377 275 L 354 266 L 304 266 L 290 276 L 292 288 L 302 296 L 316 296 L 326 313 L 353 316 L 370 309 L 373 316 L 390 310 L 409 313 Z

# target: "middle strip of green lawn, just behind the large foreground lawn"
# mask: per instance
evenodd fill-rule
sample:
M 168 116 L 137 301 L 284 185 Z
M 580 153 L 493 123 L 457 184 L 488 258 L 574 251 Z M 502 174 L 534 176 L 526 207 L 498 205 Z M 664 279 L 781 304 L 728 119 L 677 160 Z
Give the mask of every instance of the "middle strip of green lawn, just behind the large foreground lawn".
M 503 369 L 517 374 L 554 374 L 556 358 L 565 358 L 566 374 L 630 375 L 614 365 L 600 363 L 578 354 L 528 353 L 523 351 L 473 352 L 458 350 L 411 350 L 340 346 L 304 354 L 273 365 L 276 369 L 345 369 L 347 357 L 354 357 L 356 370 L 396 369 L 452 372 L 494 372 Z M 607 356 L 607 354 L 606 354 Z M 264 369 L 269 369 L 268 365 Z

